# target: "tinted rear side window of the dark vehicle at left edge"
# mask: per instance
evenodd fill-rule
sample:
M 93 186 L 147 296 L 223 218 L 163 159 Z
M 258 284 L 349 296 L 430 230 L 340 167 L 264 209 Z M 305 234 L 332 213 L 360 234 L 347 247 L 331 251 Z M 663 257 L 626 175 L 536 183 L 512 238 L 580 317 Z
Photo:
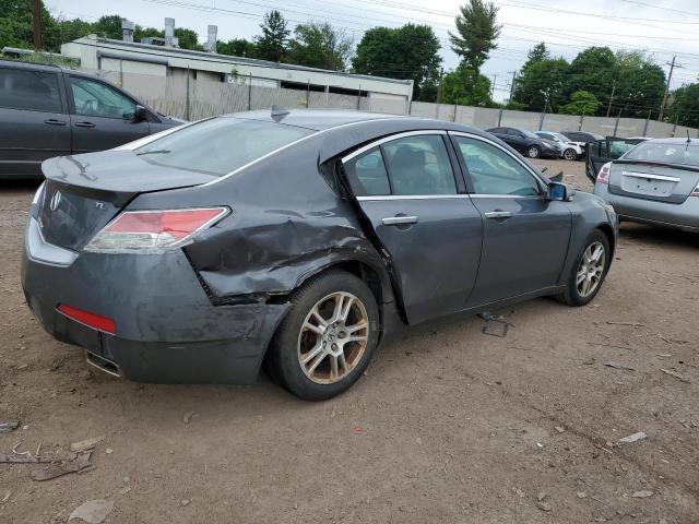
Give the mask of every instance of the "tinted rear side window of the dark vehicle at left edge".
M 0 107 L 61 112 L 58 75 L 43 71 L 0 68 Z

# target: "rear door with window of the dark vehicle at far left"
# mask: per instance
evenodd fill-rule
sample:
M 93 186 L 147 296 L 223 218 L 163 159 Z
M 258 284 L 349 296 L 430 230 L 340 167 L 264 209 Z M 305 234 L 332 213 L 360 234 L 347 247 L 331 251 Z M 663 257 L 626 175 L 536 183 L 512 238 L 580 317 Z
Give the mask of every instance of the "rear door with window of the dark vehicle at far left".
M 59 74 L 0 68 L 0 178 L 40 177 L 43 160 L 70 154 Z

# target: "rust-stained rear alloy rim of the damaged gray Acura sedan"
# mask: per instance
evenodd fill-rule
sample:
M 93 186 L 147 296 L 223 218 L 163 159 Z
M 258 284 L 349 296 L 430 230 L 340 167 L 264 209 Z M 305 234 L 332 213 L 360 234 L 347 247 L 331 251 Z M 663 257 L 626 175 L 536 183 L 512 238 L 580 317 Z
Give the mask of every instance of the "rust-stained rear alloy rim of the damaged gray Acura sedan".
M 311 381 L 333 384 L 362 361 L 368 341 L 365 305 L 351 293 L 333 293 L 306 315 L 298 335 L 298 362 Z

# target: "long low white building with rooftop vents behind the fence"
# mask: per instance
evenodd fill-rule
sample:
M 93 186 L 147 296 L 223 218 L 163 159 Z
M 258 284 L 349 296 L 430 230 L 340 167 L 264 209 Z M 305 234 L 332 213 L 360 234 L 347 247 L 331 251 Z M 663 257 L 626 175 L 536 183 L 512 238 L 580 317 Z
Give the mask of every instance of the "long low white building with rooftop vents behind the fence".
M 168 21 L 169 22 L 169 21 Z M 174 24 L 174 21 L 171 21 Z M 210 26 L 210 40 L 215 27 Z M 138 73 L 157 76 L 189 75 L 193 80 L 251 83 L 266 87 L 310 90 L 344 95 L 360 95 L 395 103 L 411 102 L 412 80 L 384 79 L 341 71 L 276 63 L 244 57 L 218 55 L 209 51 L 191 51 L 168 46 L 167 38 L 151 41 L 165 45 L 138 44 L 128 34 L 125 23 L 125 40 L 99 38 L 88 35 L 63 44 L 61 53 L 80 60 L 81 69 Z M 171 41 L 171 40 L 170 40 Z M 176 39 L 175 39 L 176 45 Z M 166 47 L 167 46 L 167 47 Z M 208 43 L 208 48 L 215 48 Z

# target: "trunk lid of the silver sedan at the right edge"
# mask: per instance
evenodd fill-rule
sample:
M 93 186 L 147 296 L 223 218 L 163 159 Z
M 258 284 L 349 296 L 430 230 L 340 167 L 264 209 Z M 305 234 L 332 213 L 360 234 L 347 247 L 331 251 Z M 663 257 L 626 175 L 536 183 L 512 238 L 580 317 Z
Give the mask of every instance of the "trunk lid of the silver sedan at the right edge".
M 614 160 L 609 192 L 682 204 L 699 183 L 699 168 L 656 162 Z

